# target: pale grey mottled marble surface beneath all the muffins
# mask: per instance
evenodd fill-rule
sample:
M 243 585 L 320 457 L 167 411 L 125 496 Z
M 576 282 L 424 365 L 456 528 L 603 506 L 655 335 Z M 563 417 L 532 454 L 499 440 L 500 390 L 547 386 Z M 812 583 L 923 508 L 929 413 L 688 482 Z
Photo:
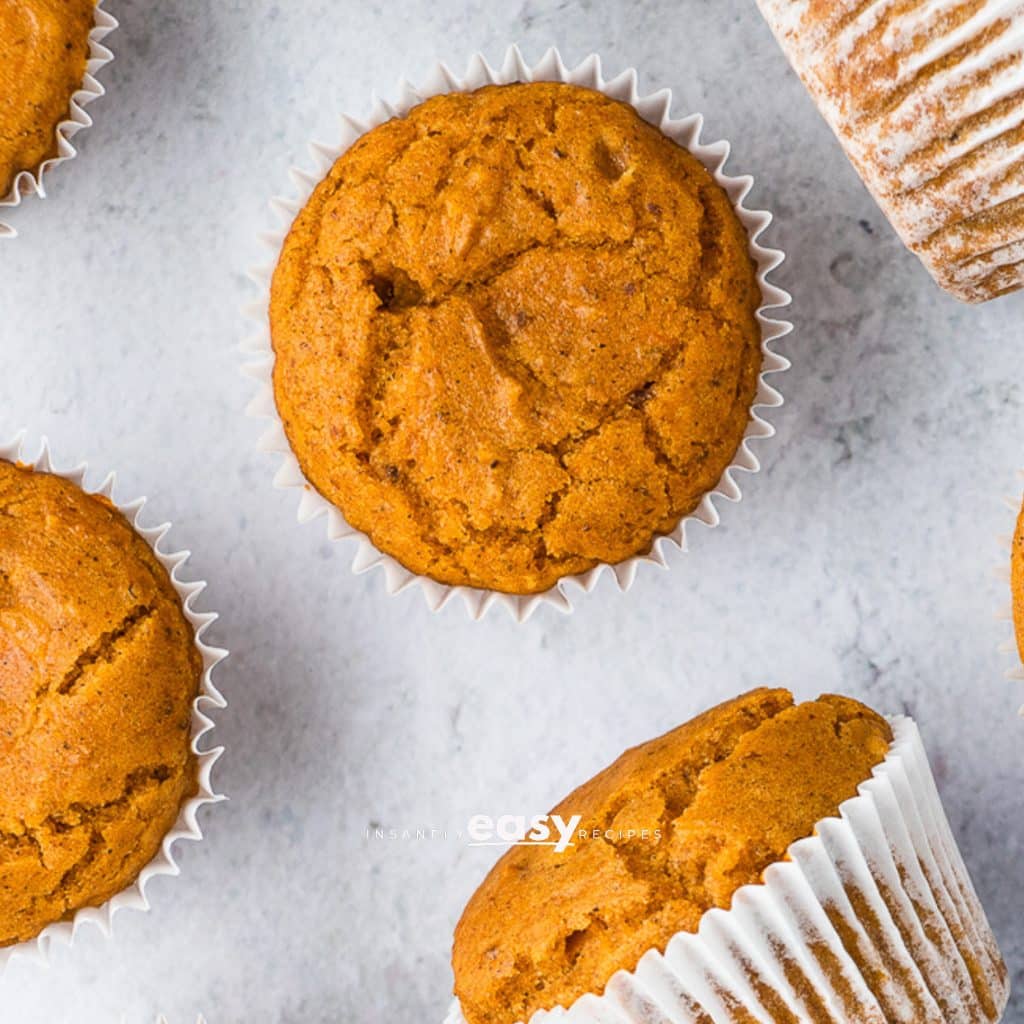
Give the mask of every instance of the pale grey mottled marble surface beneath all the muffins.
M 762 683 L 908 712 L 1024 1017 L 1024 686 L 998 538 L 1020 493 L 1024 296 L 968 308 L 904 252 L 753 0 L 508 4 L 110 0 L 109 94 L 50 198 L 0 241 L 0 434 L 120 471 L 221 612 L 230 802 L 150 913 L 0 980 L 18 1024 L 439 1021 L 452 928 L 494 859 L 463 828 L 547 809 L 625 746 Z M 592 50 L 733 140 L 788 253 L 778 437 L 723 524 L 623 595 L 526 626 L 431 614 L 295 522 L 244 417 L 245 268 L 310 137 L 440 56 Z

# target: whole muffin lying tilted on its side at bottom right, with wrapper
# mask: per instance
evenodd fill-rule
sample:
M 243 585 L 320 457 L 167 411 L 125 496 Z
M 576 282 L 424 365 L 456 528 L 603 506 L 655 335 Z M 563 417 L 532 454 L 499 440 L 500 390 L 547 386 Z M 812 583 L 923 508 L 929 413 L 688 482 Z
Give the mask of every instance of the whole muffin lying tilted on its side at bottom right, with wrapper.
M 878 804 L 858 796 L 891 749 L 894 777 L 916 777 L 915 730 L 899 728 L 895 743 L 846 697 L 756 690 L 628 751 L 552 812 L 579 816 L 574 845 L 514 847 L 469 901 L 450 1022 L 517 1024 L 579 1000 L 580 1021 L 996 1020 L 1006 968 L 943 848 L 934 787 L 908 800 L 907 823 L 888 781 Z M 829 819 L 851 798 L 847 833 L 847 813 Z M 928 838 L 905 853 L 921 821 Z

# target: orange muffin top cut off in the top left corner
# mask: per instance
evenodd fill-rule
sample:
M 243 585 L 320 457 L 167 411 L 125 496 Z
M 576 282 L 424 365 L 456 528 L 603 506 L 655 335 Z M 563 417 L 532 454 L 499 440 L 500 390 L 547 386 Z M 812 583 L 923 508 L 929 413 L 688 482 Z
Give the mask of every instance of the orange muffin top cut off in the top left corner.
M 57 155 L 57 125 L 85 78 L 95 0 L 0 2 L 0 199 Z

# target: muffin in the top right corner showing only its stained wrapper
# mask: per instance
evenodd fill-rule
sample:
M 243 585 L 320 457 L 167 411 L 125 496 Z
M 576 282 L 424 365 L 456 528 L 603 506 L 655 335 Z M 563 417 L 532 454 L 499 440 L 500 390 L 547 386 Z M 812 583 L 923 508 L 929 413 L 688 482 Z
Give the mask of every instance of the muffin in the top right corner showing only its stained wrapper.
M 883 213 L 965 302 L 1024 287 L 1024 18 L 986 0 L 758 0 Z

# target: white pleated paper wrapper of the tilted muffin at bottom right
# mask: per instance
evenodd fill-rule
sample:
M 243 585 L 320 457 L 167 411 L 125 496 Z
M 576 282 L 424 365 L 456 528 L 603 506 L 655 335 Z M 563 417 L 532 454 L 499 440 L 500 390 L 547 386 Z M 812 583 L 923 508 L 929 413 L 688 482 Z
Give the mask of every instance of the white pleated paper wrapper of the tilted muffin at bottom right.
M 729 910 L 708 911 L 602 995 L 529 1024 L 981 1024 L 1007 969 L 939 800 L 918 727 L 839 816 L 790 847 Z M 465 1024 L 458 1001 L 445 1024 Z

